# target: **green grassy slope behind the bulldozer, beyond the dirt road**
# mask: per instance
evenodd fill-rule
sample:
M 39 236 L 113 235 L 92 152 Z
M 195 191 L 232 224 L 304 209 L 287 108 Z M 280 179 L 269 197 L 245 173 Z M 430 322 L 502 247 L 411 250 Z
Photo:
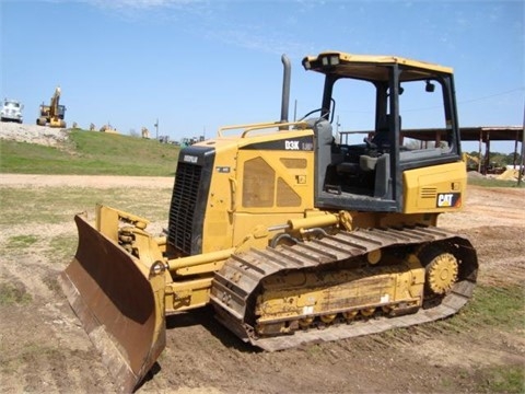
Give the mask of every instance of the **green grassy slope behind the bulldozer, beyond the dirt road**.
M 59 148 L 2 140 L 0 172 L 173 176 L 178 152 L 179 147 L 156 140 L 71 130 Z

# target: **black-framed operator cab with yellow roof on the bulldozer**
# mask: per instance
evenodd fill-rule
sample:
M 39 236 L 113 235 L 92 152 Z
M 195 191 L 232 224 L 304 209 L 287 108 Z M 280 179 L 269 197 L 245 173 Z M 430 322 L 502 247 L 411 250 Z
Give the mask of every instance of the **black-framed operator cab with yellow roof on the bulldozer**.
M 317 207 L 402 212 L 404 171 L 460 160 L 452 69 L 342 53 L 303 67 L 325 74 L 322 106 L 307 114 L 320 116 L 306 119 Z

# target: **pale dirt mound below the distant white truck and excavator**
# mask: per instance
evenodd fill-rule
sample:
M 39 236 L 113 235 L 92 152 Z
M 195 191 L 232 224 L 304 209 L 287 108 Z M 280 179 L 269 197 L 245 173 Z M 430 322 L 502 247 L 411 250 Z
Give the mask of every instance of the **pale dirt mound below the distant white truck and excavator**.
M 0 139 L 57 147 L 69 138 L 69 130 L 28 124 L 1 123 Z

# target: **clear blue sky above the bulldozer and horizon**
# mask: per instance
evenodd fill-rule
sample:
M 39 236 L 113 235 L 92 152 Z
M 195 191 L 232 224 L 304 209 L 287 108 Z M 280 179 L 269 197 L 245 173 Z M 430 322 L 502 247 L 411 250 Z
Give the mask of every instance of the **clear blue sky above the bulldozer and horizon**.
M 278 120 L 282 54 L 301 117 L 323 82 L 301 60 L 325 50 L 452 67 L 462 126 L 524 123 L 522 0 L 0 0 L 0 95 L 24 104 L 24 123 L 58 85 L 68 126 L 86 129 L 155 137 L 159 120 L 159 136 L 179 140 Z M 352 120 L 341 114 L 341 129 Z

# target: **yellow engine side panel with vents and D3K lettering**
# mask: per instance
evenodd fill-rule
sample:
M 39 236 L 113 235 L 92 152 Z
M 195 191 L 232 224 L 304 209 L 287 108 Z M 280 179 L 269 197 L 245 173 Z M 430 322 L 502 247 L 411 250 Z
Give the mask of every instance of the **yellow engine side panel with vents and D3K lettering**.
M 311 137 L 307 137 L 311 141 Z M 282 142 L 283 149 L 279 149 Z M 306 142 L 305 142 L 306 143 Z M 303 218 L 314 207 L 314 152 L 292 140 L 238 151 L 234 244 L 270 225 Z M 287 147 L 292 148 L 288 149 Z M 299 147 L 299 149 L 298 149 Z M 260 149 L 262 148 L 262 149 Z M 276 149 L 277 148 L 277 149 Z M 261 247 L 268 243 L 260 240 Z

